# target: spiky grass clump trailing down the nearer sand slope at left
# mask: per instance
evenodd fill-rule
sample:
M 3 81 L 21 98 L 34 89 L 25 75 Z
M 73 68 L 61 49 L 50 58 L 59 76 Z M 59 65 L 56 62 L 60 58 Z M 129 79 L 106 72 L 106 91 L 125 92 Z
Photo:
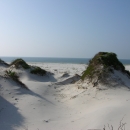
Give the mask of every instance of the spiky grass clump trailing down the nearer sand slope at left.
M 28 89 L 27 86 L 19 80 L 19 76 L 17 75 L 16 72 L 12 70 L 6 70 L 5 76 L 11 78 L 12 80 L 20 84 L 23 88 Z

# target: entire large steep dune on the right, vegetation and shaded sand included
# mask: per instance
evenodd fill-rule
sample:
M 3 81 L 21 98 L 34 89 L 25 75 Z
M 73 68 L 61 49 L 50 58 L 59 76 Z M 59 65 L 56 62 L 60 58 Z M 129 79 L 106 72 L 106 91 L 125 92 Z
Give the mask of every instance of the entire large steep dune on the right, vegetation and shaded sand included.
M 117 85 L 130 86 L 130 72 L 125 70 L 115 53 L 109 52 L 96 54 L 90 60 L 81 79 L 83 82 L 91 83 L 93 87 L 100 85 L 110 87 Z M 126 83 L 126 81 L 129 83 Z

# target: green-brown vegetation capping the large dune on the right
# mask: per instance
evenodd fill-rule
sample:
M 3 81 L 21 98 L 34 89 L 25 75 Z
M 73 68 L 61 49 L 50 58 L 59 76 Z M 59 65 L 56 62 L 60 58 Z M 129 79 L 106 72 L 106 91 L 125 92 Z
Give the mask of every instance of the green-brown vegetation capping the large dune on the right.
M 88 78 L 92 81 L 96 77 L 98 81 L 102 81 L 107 78 L 110 73 L 113 73 L 114 69 L 120 70 L 130 76 L 130 72 L 125 70 L 125 67 L 117 59 L 115 53 L 99 52 L 89 61 L 88 67 L 81 76 L 81 79 L 84 80 Z

